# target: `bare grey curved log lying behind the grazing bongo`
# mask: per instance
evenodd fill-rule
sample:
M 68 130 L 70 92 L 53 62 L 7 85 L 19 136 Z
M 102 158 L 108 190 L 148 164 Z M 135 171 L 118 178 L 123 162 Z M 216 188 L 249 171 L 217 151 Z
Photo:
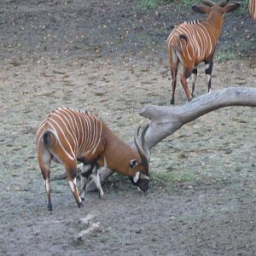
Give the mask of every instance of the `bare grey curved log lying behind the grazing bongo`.
M 150 119 L 150 125 L 145 135 L 148 148 L 153 148 L 181 126 L 201 117 L 201 115 L 228 106 L 256 107 L 256 88 L 229 87 L 196 97 L 181 106 L 144 107 L 140 115 Z M 135 148 L 133 140 L 128 143 Z M 103 167 L 100 171 L 102 183 L 112 174 L 113 171 Z M 93 182 L 87 183 L 86 191 L 95 190 L 96 186 Z

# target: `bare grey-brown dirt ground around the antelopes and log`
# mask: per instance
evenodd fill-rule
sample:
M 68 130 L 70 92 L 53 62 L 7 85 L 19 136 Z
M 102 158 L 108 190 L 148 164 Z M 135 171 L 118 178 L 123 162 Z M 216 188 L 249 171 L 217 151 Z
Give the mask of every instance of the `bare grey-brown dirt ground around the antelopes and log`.
M 146 196 L 112 177 L 103 199 L 87 194 L 79 209 L 59 180 L 46 210 L 34 144 L 44 115 L 88 109 L 130 139 L 143 106 L 169 104 L 166 38 L 194 14 L 179 14 L 174 3 L 141 10 L 125 0 L 32 2 L 0 3 L 0 254 L 255 255 L 254 108 L 208 113 L 159 143 Z M 218 45 L 255 38 L 253 20 L 227 15 Z M 212 89 L 255 87 L 255 78 L 255 55 L 237 50 L 236 61 L 214 64 Z M 201 65 L 196 96 L 204 93 Z M 180 84 L 176 99 L 186 101 Z M 52 177 L 62 172 L 52 167 Z

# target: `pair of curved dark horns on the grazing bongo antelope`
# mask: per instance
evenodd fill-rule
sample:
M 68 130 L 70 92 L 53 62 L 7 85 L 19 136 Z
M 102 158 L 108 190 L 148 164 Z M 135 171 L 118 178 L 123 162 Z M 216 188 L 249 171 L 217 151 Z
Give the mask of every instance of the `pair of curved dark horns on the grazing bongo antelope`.
M 141 137 L 142 145 L 139 143 L 139 139 L 138 139 L 141 125 L 138 126 L 137 131 L 135 132 L 135 135 L 134 135 L 134 143 L 136 145 L 137 152 L 141 157 L 143 166 L 145 166 L 147 169 L 148 169 L 148 163 L 149 163 L 149 149 L 148 149 L 147 143 L 145 143 L 145 134 L 146 134 L 146 131 L 148 130 L 148 127 L 149 127 L 149 125 L 147 125 L 143 129 L 142 137 Z

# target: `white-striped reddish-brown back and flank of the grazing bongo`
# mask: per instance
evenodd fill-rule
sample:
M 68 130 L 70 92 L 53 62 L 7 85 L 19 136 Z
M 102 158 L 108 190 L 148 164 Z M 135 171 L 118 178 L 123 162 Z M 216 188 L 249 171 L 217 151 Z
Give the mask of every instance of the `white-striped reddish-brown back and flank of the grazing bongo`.
M 37 147 L 44 135 L 45 125 L 49 125 L 61 150 L 71 160 L 76 160 L 88 152 L 95 154 L 102 141 L 102 121 L 87 112 L 58 108 L 49 113 L 39 126 Z

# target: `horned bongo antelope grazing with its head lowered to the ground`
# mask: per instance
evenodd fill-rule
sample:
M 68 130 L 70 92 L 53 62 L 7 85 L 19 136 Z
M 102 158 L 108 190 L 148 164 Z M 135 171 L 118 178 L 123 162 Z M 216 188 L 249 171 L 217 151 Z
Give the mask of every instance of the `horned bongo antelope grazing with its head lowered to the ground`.
M 81 189 L 85 189 L 86 178 L 95 169 L 96 163 L 108 166 L 114 172 L 131 177 L 138 189 L 148 189 L 149 150 L 144 141 L 143 130 L 141 142 L 138 138 L 140 126 L 135 135 L 137 151 L 116 136 L 101 119 L 95 115 L 68 108 L 57 108 L 49 113 L 36 135 L 38 163 L 44 177 L 47 194 L 47 207 L 52 210 L 49 186 L 49 168 L 52 160 L 60 162 L 66 168 L 67 180 L 78 207 L 83 206 L 77 189 L 77 160 L 84 163 Z M 103 195 L 98 172 L 92 176 L 96 186 Z M 84 197 L 83 197 L 84 199 Z

